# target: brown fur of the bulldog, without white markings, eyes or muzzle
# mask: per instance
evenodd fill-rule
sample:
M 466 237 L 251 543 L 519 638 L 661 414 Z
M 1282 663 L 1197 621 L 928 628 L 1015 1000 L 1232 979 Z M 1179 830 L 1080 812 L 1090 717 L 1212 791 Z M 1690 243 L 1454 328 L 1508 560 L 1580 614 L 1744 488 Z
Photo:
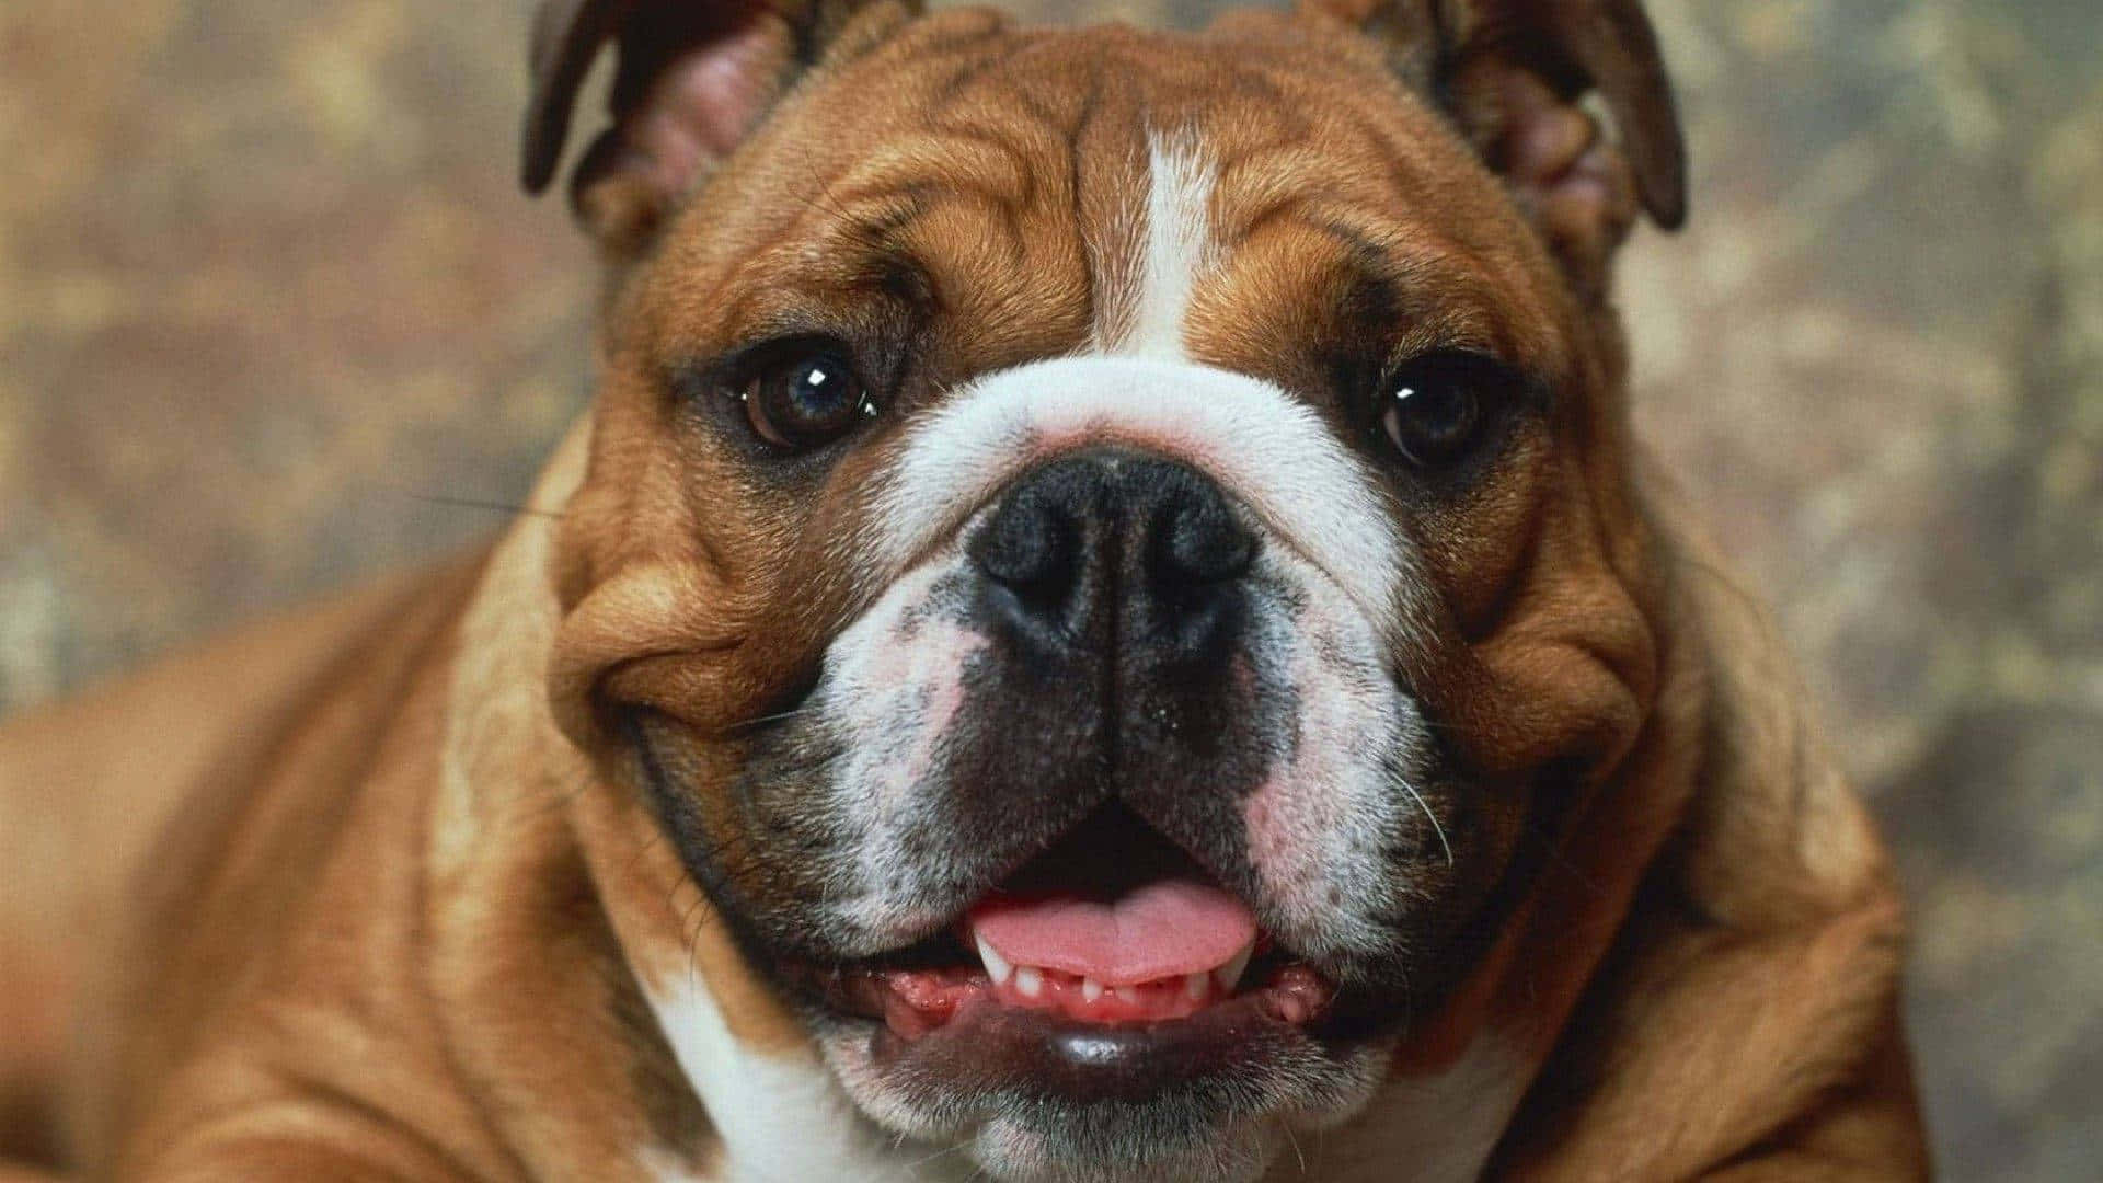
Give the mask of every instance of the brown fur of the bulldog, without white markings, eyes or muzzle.
M 864 13 L 826 84 L 660 232 L 662 210 L 593 215 L 625 269 L 599 400 L 536 493 L 559 522 L 4 733 L 6 857 L 17 836 L 65 855 L 0 897 L 0 951 L 25 966 L 0 1084 L 48 1095 L 55 1031 L 84 1025 L 84 1177 L 612 1179 L 646 1143 L 707 1166 L 639 983 L 700 973 L 749 1046 L 805 1040 L 627 787 L 604 707 L 665 711 L 721 762 L 709 737 L 875 592 L 824 543 L 892 450 L 810 497 L 736 488 L 665 375 L 812 318 L 921 335 L 921 400 L 1079 347 L 1117 290 L 1081 236 L 1117 232 L 1144 112 L 1203 128 L 1222 164 L 1232 257 L 1192 307 L 1195 358 L 1316 385 L 1308 343 L 1352 328 L 1340 295 L 1373 267 L 1407 276 L 1426 339 L 1573 392 L 1420 522 L 1451 613 L 1415 684 L 1520 802 L 1499 840 L 1544 819 L 1558 838 L 1396 1071 L 1489 1023 L 1523 1034 L 1539 1076 L 1497 1177 L 1922 1175 L 1884 855 L 1775 640 L 1630 438 L 1602 272 L 1628 192 L 1605 213 L 1506 192 L 1335 21 L 1247 15 L 1201 40 L 902 19 Z M 1590 147 L 1565 139 L 1550 156 Z M 898 257 L 942 295 L 936 322 L 890 284 Z M 128 937 L 90 956 L 86 928 Z M 1377 1156 L 1401 1105 L 1338 1141 Z

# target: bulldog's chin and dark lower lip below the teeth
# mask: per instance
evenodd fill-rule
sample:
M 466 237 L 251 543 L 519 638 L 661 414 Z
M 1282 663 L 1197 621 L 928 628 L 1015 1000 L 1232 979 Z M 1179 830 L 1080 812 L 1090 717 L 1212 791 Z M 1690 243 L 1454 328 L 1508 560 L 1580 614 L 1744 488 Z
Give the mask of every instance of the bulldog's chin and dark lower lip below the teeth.
M 837 1008 L 816 1029 L 877 1124 L 1003 1183 L 1253 1181 L 1380 1084 L 1392 1040 L 1316 1019 L 1249 991 L 1161 1023 L 974 1000 L 919 1034 Z

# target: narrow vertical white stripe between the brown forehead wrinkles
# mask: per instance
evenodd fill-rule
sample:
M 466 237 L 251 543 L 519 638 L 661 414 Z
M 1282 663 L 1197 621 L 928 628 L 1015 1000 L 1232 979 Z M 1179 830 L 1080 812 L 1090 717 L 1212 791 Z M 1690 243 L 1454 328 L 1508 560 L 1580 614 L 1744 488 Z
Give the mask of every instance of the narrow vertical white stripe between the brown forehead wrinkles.
M 1110 293 L 1104 316 L 1123 326 L 1102 326 L 1106 352 L 1136 358 L 1184 356 L 1184 320 L 1190 293 L 1211 269 L 1211 189 L 1216 164 L 1197 137 L 1150 135 L 1146 145 L 1146 223 L 1136 246 L 1138 267 L 1112 274 L 1136 276 L 1136 290 Z

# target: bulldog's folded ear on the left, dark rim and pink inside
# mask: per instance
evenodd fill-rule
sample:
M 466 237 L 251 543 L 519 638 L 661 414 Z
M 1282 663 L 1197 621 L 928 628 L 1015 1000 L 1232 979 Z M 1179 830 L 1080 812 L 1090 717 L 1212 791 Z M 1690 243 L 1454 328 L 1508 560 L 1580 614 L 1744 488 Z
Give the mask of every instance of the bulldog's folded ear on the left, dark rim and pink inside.
M 555 179 L 578 88 L 608 42 L 618 46 L 612 128 L 578 162 L 570 200 L 593 238 L 629 255 L 801 72 L 866 48 L 917 11 L 919 0 L 545 0 L 532 34 L 526 192 Z

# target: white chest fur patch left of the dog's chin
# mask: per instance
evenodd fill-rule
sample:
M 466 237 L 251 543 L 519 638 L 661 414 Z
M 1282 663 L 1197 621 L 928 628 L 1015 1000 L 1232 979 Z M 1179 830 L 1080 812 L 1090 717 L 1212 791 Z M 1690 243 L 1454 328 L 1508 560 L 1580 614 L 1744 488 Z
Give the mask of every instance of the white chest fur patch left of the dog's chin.
M 711 1183 L 908 1183 L 967 1172 L 959 1166 L 969 1164 L 930 1160 L 925 1147 L 881 1132 L 816 1055 L 765 1057 L 742 1046 L 698 979 L 662 998 L 652 994 L 650 1006 L 723 1139 Z M 694 1181 L 660 1149 L 646 1147 L 637 1158 L 667 1183 Z

